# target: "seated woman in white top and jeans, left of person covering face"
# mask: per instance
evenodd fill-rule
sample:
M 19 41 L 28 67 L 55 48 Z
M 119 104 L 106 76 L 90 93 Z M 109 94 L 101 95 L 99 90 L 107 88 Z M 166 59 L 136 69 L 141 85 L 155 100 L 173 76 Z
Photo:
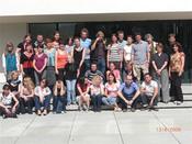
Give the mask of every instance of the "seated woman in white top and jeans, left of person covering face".
M 37 114 L 41 115 L 42 111 L 41 108 L 43 108 L 43 114 L 46 115 L 47 111 L 49 109 L 49 101 L 50 101 L 50 89 L 47 87 L 46 79 L 42 79 L 39 86 L 37 86 L 34 90 L 35 93 L 35 109 L 37 111 Z

